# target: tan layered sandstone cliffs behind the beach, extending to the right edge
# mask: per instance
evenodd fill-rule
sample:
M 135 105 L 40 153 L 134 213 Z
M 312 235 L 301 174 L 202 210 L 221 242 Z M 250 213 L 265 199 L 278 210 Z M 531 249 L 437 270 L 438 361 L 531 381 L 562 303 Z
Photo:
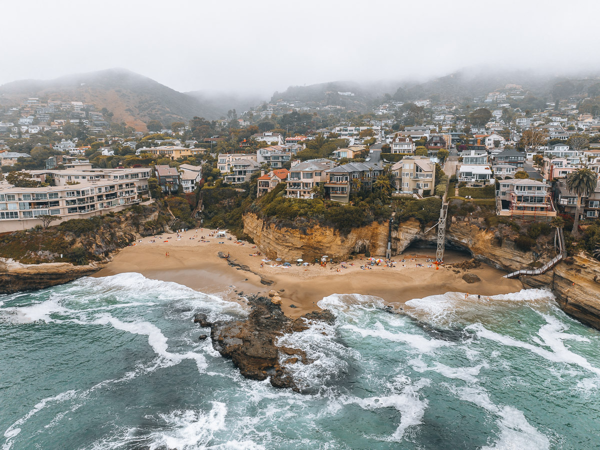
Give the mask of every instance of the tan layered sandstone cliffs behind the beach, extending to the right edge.
M 409 219 L 392 230 L 392 255 L 398 255 L 411 244 L 435 245 L 436 233 L 424 233 L 421 223 Z M 374 222 L 367 227 L 353 229 L 343 236 L 332 227 L 278 227 L 266 223 L 255 214 L 244 216 L 244 233 L 271 258 L 310 261 L 323 254 L 344 260 L 353 253 L 368 249 L 373 255 L 385 255 L 388 243 L 388 223 Z M 513 272 L 528 267 L 533 260 L 547 261 L 548 253 L 533 255 L 515 248 L 518 235 L 499 239 L 498 234 L 479 220 L 452 222 L 446 231 L 446 248 L 468 252 L 473 258 L 496 269 Z M 520 277 L 523 287 L 552 290 L 556 301 L 566 314 L 590 327 L 600 330 L 600 263 L 578 255 L 571 263 L 560 263 L 544 275 Z

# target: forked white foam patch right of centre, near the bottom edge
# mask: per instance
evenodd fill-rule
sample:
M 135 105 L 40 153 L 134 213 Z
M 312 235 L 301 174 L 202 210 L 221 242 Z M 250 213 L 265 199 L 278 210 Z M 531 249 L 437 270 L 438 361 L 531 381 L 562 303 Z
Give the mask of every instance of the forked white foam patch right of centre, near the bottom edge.
M 358 404 L 362 409 L 394 408 L 398 410 L 401 415 L 400 424 L 387 440 L 400 442 L 407 428 L 422 423 L 429 401 L 420 397 L 419 389 L 429 384 L 430 380 L 428 379 L 419 379 L 415 383 L 411 383 L 408 377 L 398 376 L 394 380 L 394 384 L 389 386 L 392 394 L 368 398 L 355 397 L 350 398 L 346 403 Z

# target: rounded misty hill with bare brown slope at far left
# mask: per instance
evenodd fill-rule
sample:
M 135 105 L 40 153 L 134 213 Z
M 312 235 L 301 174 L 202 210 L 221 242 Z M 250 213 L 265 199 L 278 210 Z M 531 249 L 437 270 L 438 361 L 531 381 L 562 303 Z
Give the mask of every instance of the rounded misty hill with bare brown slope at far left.
M 140 131 L 146 129 L 149 120 L 159 120 L 168 126 L 194 116 L 215 119 L 221 115 L 214 106 L 196 97 L 122 68 L 0 86 L 0 102 L 4 106 L 19 104 L 28 97 L 92 103 L 98 110 L 112 111 L 113 121 L 125 122 Z

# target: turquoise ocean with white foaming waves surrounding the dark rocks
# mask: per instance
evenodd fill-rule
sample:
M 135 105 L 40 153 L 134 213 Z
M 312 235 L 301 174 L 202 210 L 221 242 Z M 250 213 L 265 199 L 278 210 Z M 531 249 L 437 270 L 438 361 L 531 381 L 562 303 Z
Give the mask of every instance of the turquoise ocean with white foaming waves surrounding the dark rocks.
M 385 299 L 393 302 L 394 299 Z M 137 273 L 0 296 L 2 450 L 598 449 L 600 333 L 544 290 L 320 300 L 302 393 L 240 376 L 193 323 L 245 306 Z

